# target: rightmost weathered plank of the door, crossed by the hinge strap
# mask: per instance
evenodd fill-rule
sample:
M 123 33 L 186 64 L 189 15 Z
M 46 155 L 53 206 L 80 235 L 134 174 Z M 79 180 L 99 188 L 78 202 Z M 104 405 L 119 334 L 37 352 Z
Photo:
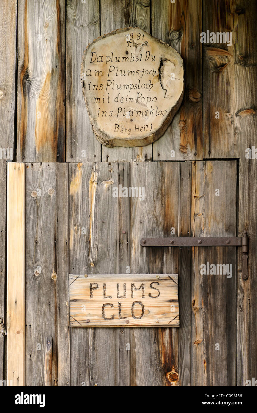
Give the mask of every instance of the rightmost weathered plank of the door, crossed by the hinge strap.
M 192 172 L 192 236 L 236 236 L 236 161 L 195 162 Z M 191 385 L 235 386 L 236 247 L 192 252 Z M 231 264 L 232 277 L 201 275 L 207 262 Z

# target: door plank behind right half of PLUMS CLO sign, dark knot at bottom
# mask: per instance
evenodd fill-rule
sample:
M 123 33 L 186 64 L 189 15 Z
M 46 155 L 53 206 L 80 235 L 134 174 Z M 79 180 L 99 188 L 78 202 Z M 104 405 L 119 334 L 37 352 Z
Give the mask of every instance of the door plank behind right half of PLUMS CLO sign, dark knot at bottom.
M 177 249 L 145 248 L 139 240 L 178 233 L 180 164 L 133 163 L 130 185 L 145 188 L 144 200 L 131 198 L 131 273 L 178 273 L 179 283 Z M 131 329 L 131 386 L 179 384 L 178 330 Z

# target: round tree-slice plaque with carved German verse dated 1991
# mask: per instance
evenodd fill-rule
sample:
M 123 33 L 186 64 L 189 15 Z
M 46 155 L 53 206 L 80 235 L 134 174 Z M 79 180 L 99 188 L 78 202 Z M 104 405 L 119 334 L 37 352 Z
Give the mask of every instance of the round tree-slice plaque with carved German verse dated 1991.
M 144 146 L 164 133 L 182 102 L 183 61 L 145 31 L 119 29 L 88 45 L 81 82 L 98 140 Z

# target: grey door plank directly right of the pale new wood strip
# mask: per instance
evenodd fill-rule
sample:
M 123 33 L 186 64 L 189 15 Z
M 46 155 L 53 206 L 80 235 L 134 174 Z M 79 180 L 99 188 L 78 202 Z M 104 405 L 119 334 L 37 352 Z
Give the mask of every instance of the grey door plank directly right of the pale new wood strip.
M 26 385 L 69 385 L 67 164 L 26 165 Z M 50 385 L 50 384 L 49 384 Z

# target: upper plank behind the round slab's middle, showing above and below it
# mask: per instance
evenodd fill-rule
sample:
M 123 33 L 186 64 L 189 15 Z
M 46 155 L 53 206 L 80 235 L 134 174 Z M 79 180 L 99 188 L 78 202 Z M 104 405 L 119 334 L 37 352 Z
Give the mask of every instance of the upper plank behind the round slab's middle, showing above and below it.
M 131 26 L 150 33 L 150 0 L 101 0 L 100 4 L 102 35 Z M 107 148 L 102 145 L 102 161 L 149 160 L 152 160 L 152 144 L 134 148 Z

